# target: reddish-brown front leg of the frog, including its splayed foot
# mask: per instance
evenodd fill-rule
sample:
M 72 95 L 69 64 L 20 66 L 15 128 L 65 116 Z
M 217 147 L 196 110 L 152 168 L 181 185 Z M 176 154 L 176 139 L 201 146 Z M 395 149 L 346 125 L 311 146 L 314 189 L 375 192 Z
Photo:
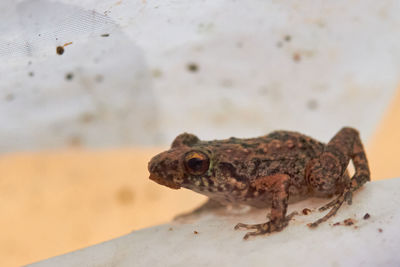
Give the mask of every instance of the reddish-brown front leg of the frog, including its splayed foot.
M 260 224 L 238 223 L 235 229 L 255 229 L 254 232 L 248 232 L 243 239 L 248 239 L 250 236 L 279 232 L 288 225 L 290 219 L 296 214 L 291 213 L 286 216 L 289 198 L 289 180 L 290 177 L 287 174 L 275 174 L 256 179 L 253 184 L 256 190 L 265 190 L 272 194 L 270 221 Z

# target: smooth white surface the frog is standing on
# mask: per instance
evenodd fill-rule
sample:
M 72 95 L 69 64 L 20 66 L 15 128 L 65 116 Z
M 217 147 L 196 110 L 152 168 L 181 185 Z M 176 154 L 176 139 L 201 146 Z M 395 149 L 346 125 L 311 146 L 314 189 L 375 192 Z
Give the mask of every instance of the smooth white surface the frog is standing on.
M 30 266 L 400 266 L 399 188 L 400 178 L 368 183 L 354 194 L 353 205 L 312 230 L 306 224 L 322 216 L 318 211 L 295 217 L 280 233 L 244 241 L 245 231 L 233 230 L 234 225 L 265 222 L 266 211 L 224 211 L 136 231 Z M 305 200 L 290 210 L 324 203 Z M 355 224 L 333 226 L 347 218 Z

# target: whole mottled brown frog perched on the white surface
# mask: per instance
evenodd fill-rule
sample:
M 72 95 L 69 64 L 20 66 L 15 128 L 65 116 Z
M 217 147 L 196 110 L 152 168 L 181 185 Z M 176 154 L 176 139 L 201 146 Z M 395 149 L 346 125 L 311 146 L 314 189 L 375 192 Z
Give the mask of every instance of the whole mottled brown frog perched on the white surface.
M 352 161 L 354 174 L 349 175 Z M 219 205 L 270 208 L 268 221 L 238 223 L 244 239 L 280 232 L 298 214 L 289 203 L 310 197 L 333 198 L 320 211 L 315 228 L 333 217 L 353 192 L 370 181 L 370 169 L 359 132 L 343 127 L 328 143 L 295 131 L 277 130 L 256 138 L 202 141 L 182 133 L 170 149 L 148 163 L 150 179 L 171 189 L 187 188 Z

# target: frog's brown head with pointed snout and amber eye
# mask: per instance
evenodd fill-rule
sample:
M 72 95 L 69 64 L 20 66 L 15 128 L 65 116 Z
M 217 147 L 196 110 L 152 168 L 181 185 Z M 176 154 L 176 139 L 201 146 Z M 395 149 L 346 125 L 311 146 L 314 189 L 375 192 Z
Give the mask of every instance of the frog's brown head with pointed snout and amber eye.
M 183 133 L 172 142 L 171 149 L 154 156 L 148 165 L 150 179 L 173 189 L 188 182 L 188 177 L 202 176 L 210 168 L 210 154 L 201 146 L 200 139 Z

